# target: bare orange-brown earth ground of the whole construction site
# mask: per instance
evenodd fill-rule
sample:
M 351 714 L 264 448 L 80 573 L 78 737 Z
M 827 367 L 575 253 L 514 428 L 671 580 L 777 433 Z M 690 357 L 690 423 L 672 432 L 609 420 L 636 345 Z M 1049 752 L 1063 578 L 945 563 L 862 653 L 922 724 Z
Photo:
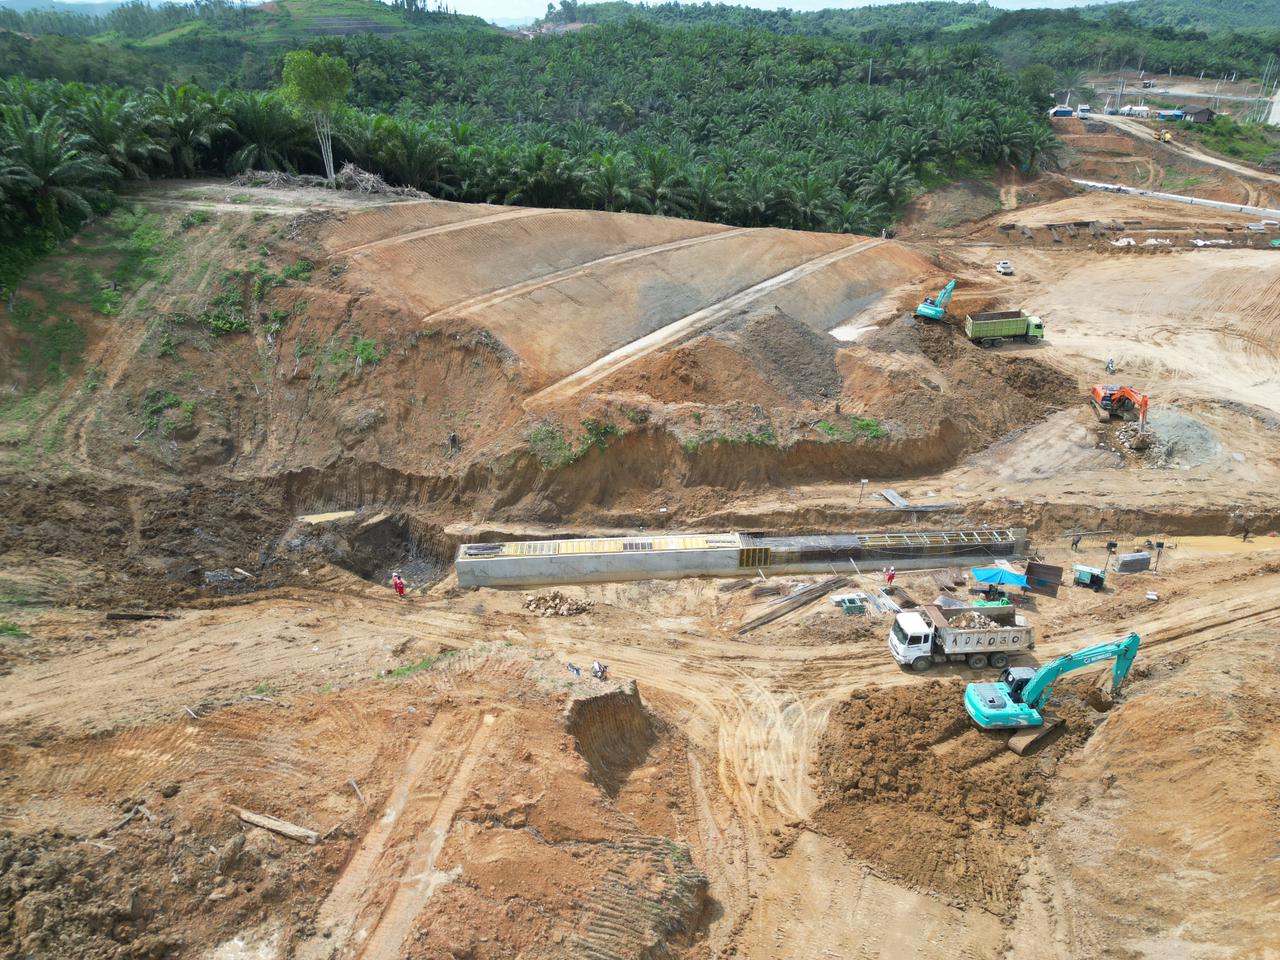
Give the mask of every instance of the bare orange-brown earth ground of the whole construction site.
M 1064 132 L 1071 175 L 1202 163 Z M 0 955 L 1275 947 L 1274 227 L 1060 175 L 938 191 L 897 239 L 285 180 L 134 207 L 0 326 Z M 1011 308 L 1043 340 L 965 337 Z M 1096 383 L 1149 394 L 1146 449 Z M 878 567 L 453 572 L 472 543 L 984 527 L 1065 570 L 1015 666 L 1142 636 L 1117 694 L 1110 663 L 1055 685 L 1025 755 L 965 712 L 997 671 L 904 669 L 878 599 L 794 604 L 879 598 Z M 1071 586 L 1108 544 L 1152 568 Z M 969 598 L 934 573 L 892 595 Z

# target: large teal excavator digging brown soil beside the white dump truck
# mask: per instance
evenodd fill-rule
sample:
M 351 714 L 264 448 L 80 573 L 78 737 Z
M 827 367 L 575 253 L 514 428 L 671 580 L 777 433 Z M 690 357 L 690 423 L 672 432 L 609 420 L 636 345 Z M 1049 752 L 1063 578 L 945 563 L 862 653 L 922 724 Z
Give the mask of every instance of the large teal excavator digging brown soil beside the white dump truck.
M 1085 646 L 1083 650 L 1059 657 L 1039 669 L 1007 667 L 995 684 L 970 684 L 964 691 L 964 708 L 969 712 L 973 722 L 983 730 L 1043 727 L 1044 716 L 1041 710 L 1048 703 L 1055 680 L 1073 669 L 1088 667 L 1091 663 L 1114 659 L 1115 667 L 1111 669 L 1111 692 L 1114 694 L 1120 689 L 1124 678 L 1129 676 L 1129 668 L 1133 667 L 1133 660 L 1138 655 L 1140 641 L 1142 637 L 1137 634 L 1129 634 L 1123 640 Z M 1036 739 L 1038 736 L 1019 745 L 1025 749 Z M 1010 742 L 1015 753 L 1023 751 L 1019 745 Z

